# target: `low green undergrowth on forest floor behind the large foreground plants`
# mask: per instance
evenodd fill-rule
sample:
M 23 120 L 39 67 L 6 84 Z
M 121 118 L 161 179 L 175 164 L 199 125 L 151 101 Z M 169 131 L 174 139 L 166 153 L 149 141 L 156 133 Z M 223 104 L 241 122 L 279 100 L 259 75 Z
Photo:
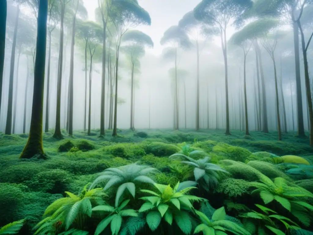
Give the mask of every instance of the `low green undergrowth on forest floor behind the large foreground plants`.
M 94 130 L 92 136 L 76 131 L 69 137 L 63 130 L 65 139 L 60 141 L 52 138 L 52 130 L 44 133 L 44 151 L 49 160 L 19 159 L 28 135 L 0 133 L 0 227 L 23 218 L 33 227 L 45 208 L 65 195 L 64 191 L 78 193 L 109 167 L 140 161 L 160 170 L 156 175 L 159 183 L 175 184 L 179 177 L 169 169 L 168 156 L 177 153 L 183 142 L 198 142 L 206 152 L 213 151 L 220 142 L 244 148 L 236 149 L 235 158 L 249 151 L 266 151 L 305 157 L 313 163 L 309 139 L 298 138 L 296 133 L 283 133 L 283 141 L 277 141 L 276 132 L 250 132 L 251 136 L 244 136 L 244 132 L 232 131 L 226 136 L 224 130 L 119 130 L 117 138 L 111 133 L 107 130 L 105 137 L 99 138 L 99 130 Z

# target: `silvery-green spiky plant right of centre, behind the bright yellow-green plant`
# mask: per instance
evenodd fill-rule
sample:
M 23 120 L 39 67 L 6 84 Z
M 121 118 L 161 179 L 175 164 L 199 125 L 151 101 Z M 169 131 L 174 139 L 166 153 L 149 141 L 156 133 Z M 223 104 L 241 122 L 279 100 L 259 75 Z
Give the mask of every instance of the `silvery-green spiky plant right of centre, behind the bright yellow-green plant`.
M 203 151 L 194 150 L 189 153 L 189 156 L 184 154 L 173 154 L 170 158 L 173 157 L 183 157 L 188 161 L 182 161 L 182 163 L 190 165 L 193 168 L 193 175 L 200 186 L 209 191 L 211 188 L 214 188 L 218 185 L 219 175 L 217 172 L 228 173 L 226 170 L 221 168 L 219 165 L 209 163 L 210 157 L 206 156 L 204 159 L 195 160 L 192 156 L 197 154 L 203 154 Z M 204 153 L 205 154 L 205 153 Z

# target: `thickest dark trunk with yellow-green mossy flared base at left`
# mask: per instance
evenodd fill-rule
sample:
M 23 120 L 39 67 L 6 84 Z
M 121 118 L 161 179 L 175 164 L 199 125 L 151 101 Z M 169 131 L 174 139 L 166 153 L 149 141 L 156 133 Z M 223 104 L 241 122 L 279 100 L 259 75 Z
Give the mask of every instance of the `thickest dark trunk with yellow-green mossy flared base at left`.
M 28 141 L 23 149 L 20 158 L 47 158 L 47 156 L 44 154 L 44 148 L 42 143 L 42 125 L 44 112 L 44 72 L 47 45 L 47 18 L 48 0 L 39 0 L 36 43 L 37 52 L 34 70 L 32 118 L 30 122 Z

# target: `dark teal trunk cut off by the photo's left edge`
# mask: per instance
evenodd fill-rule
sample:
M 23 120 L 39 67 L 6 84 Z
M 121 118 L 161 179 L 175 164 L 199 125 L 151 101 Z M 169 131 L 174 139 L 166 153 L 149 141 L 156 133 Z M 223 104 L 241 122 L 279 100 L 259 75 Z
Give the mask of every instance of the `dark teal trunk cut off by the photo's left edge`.
M 0 113 L 4 74 L 5 34 L 7 25 L 7 0 L 0 1 Z

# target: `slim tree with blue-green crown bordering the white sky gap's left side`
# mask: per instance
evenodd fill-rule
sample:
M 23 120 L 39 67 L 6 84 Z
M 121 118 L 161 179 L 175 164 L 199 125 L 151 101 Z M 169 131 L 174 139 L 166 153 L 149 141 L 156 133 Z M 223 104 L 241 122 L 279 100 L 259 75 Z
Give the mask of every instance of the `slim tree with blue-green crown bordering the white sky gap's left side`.
M 112 2 L 113 3 L 113 2 Z M 138 25 L 151 25 L 149 13 L 139 6 L 136 0 L 115 0 L 110 11 L 110 19 L 115 26 L 115 107 L 114 124 L 112 136 L 117 137 L 117 82 L 118 82 L 118 61 L 121 40 L 123 35 L 131 28 Z

